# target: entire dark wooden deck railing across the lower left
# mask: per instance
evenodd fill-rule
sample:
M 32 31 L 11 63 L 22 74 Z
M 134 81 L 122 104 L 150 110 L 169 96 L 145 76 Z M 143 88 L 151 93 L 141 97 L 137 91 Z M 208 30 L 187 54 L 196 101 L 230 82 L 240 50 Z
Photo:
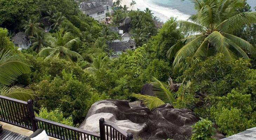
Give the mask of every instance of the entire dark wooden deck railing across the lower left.
M 35 117 L 31 100 L 21 100 L 0 96 L 0 121 L 36 131 L 41 128 L 47 135 L 60 140 L 134 140 L 116 125 L 99 120 L 100 134 L 63 125 L 54 121 Z

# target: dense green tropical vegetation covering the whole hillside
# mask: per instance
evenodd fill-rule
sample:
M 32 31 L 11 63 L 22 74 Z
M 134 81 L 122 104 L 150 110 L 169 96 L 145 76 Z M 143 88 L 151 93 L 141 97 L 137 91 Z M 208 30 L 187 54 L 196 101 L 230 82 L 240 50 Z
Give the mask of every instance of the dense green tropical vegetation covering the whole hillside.
M 255 127 L 256 13 L 243 0 L 191 1 L 191 22 L 170 18 L 160 28 L 150 9 L 129 11 L 121 0 L 110 25 L 82 14 L 74 0 L 2 0 L 0 94 L 33 99 L 39 117 L 70 126 L 110 98 L 191 109 L 202 117 L 192 139 L 211 139 L 213 123 L 227 136 Z M 107 41 L 121 37 L 108 26 L 126 17 L 136 49 L 112 57 Z M 19 31 L 32 41 L 28 50 L 10 40 Z M 146 83 L 156 97 L 137 94 Z

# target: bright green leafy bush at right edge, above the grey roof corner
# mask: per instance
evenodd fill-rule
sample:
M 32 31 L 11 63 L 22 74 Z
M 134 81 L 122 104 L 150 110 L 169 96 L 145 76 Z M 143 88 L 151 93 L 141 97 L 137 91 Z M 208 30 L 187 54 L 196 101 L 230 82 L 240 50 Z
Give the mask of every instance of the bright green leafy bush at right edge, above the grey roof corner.
M 237 89 L 227 96 L 215 97 L 210 107 L 210 115 L 216 122 L 218 130 L 227 136 L 255 127 L 255 101 L 251 94 L 243 94 Z

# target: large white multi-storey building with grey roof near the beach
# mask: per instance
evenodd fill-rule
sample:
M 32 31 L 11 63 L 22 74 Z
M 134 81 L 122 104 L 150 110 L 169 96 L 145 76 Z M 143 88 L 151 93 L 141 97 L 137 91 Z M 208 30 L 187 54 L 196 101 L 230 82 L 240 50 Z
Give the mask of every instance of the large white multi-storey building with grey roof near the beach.
M 106 20 L 107 10 L 105 7 L 96 2 L 96 0 L 81 2 L 79 9 L 83 12 L 83 14 L 87 14 L 97 21 L 102 22 Z

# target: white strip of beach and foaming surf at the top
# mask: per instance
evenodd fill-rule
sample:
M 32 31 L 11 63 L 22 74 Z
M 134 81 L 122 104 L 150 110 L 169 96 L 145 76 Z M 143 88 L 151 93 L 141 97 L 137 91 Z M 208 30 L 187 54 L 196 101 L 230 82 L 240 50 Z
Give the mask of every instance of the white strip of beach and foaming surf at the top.
M 129 10 L 132 8 L 130 3 L 132 0 L 123 0 L 122 5 L 127 5 Z M 170 17 L 175 17 L 177 20 L 187 20 L 190 15 L 184 14 L 177 9 L 168 8 L 156 5 L 153 2 L 148 0 L 135 0 L 136 5 L 133 6 L 133 10 L 137 10 L 137 8 L 141 10 L 145 10 L 149 8 L 154 13 L 154 16 L 157 16 L 161 21 L 166 22 Z

